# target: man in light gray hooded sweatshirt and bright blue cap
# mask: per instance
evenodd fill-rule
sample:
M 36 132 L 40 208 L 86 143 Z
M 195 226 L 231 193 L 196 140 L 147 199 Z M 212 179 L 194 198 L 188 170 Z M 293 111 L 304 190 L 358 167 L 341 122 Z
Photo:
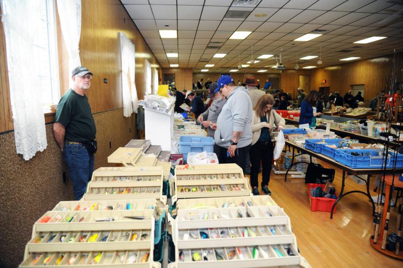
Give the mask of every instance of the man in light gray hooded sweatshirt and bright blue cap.
M 230 76 L 218 80 L 227 98 L 218 116 L 214 140 L 219 147 L 220 163 L 236 163 L 245 172 L 246 156 L 252 143 L 252 102 L 244 87 L 236 86 Z

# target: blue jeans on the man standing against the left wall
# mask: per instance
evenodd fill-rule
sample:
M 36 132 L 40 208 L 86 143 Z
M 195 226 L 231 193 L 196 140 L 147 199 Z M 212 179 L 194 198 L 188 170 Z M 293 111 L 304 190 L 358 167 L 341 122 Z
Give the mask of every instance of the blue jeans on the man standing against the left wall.
M 73 184 L 74 199 L 80 200 L 87 189 L 94 171 L 94 154 L 89 155 L 82 144 L 64 143 L 64 161 L 69 168 L 70 179 Z

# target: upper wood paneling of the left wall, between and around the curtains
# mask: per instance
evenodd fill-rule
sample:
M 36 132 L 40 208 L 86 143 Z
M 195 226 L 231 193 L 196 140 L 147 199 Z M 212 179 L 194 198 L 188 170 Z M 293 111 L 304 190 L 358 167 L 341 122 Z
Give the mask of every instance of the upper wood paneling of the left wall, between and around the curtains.
M 13 129 L 14 126 L 9 101 L 3 25 L 0 26 L 0 132 L 3 132 Z M 58 19 L 57 26 L 60 29 Z M 123 32 L 135 44 L 135 82 L 139 99 L 144 97 L 145 92 L 145 59 L 150 61 L 152 68 L 159 69 L 161 75 L 158 60 L 119 0 L 82 1 L 80 59 L 81 64 L 94 74 L 91 88 L 87 92 L 93 113 L 123 106 L 118 32 Z M 58 31 L 60 95 L 69 89 L 71 74 L 71 70 L 68 70 L 68 58 L 63 42 L 62 34 Z M 103 82 L 104 78 L 108 80 L 108 83 Z M 191 82 L 189 83 L 191 86 Z

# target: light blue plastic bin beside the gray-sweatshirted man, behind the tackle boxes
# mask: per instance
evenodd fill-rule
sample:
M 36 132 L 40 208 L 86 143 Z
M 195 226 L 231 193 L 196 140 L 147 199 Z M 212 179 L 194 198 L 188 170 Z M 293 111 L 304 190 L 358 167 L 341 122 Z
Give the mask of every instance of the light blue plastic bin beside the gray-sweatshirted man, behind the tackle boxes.
M 214 152 L 214 139 L 211 137 L 181 136 L 179 138 L 179 153 L 187 159 L 188 153 Z

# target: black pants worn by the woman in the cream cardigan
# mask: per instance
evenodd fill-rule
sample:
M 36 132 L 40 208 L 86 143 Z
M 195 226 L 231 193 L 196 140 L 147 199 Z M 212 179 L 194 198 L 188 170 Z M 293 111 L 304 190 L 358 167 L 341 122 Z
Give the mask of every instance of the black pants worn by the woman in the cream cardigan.
M 260 161 L 262 166 L 262 182 L 261 186 L 268 185 L 270 181 L 270 172 L 272 170 L 273 162 L 273 143 L 260 143 L 257 142 L 250 147 L 250 186 L 257 187 L 257 176 L 260 169 Z

